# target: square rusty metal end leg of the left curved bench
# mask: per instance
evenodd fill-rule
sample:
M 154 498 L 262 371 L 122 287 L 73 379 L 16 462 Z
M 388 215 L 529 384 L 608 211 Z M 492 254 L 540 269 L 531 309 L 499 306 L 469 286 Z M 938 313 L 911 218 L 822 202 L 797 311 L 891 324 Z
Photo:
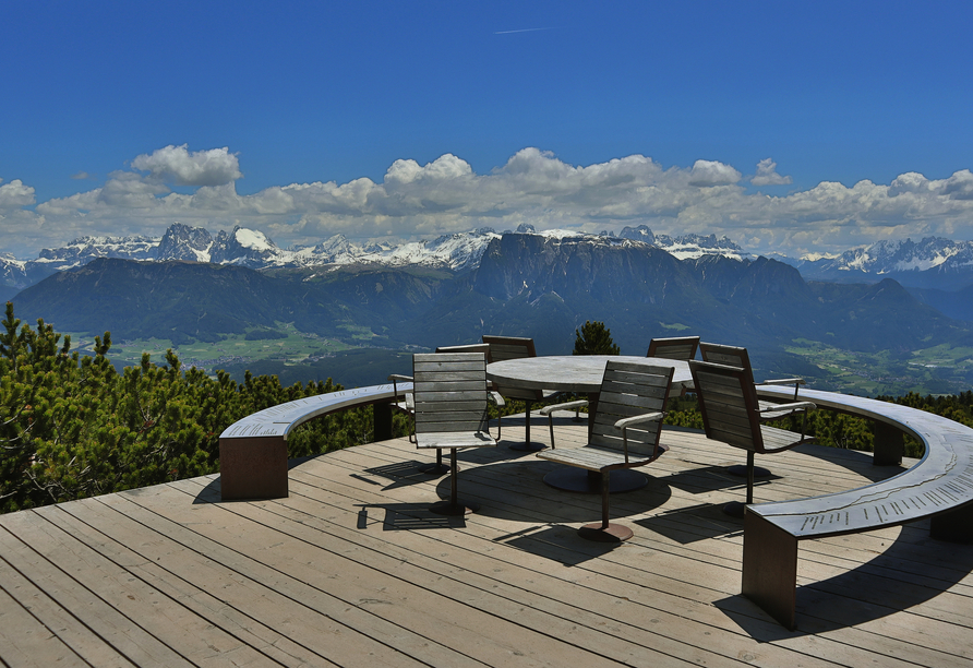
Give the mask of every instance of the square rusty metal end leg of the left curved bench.
M 219 492 L 224 501 L 287 498 L 287 442 L 283 438 L 220 439 Z

